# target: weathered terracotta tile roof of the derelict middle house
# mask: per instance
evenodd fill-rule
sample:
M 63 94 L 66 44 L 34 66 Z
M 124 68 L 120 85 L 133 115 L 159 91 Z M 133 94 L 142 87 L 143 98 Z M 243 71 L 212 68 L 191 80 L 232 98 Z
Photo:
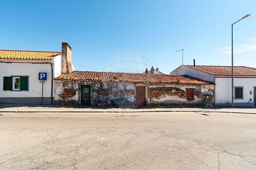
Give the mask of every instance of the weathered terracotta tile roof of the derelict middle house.
M 81 80 L 81 81 L 111 81 L 132 83 L 180 83 L 210 85 L 206 82 L 188 75 L 162 75 L 147 73 L 119 73 L 119 72 L 95 72 L 73 71 L 71 74 L 62 74 L 56 80 Z

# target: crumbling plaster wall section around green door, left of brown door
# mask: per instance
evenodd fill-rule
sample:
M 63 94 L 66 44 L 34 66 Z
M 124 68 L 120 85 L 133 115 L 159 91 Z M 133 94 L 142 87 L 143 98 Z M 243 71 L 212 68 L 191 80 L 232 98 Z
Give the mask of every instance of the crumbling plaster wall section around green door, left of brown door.
M 81 85 L 91 85 L 91 105 L 127 106 L 134 104 L 134 84 L 55 80 L 55 104 L 80 105 Z

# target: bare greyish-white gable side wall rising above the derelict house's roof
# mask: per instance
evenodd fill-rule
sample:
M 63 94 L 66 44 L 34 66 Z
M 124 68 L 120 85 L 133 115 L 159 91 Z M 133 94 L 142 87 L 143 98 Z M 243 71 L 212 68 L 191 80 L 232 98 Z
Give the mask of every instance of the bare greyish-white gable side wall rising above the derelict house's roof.
M 189 67 L 186 65 L 181 65 L 177 69 L 173 70 L 171 75 L 188 75 L 191 77 L 199 78 L 204 81 L 209 81 L 214 83 L 215 74 L 209 73 L 207 71 L 199 70 L 194 67 Z

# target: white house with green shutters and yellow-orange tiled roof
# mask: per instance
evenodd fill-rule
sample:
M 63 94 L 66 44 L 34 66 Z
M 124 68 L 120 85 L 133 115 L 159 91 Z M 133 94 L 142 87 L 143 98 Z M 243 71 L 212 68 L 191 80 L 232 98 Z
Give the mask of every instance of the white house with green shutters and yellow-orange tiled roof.
M 47 73 L 43 104 L 53 104 L 53 78 L 61 74 L 63 48 L 67 46 L 62 43 L 62 52 L 0 50 L 0 104 L 41 104 L 40 72 Z

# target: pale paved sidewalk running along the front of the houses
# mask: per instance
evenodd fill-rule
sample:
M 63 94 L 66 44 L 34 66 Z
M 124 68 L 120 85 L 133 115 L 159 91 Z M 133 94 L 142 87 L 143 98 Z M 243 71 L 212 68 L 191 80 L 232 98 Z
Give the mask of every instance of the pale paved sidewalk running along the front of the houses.
M 223 113 L 252 113 L 256 107 L 84 107 L 63 105 L 0 105 L 0 112 L 223 112 Z

